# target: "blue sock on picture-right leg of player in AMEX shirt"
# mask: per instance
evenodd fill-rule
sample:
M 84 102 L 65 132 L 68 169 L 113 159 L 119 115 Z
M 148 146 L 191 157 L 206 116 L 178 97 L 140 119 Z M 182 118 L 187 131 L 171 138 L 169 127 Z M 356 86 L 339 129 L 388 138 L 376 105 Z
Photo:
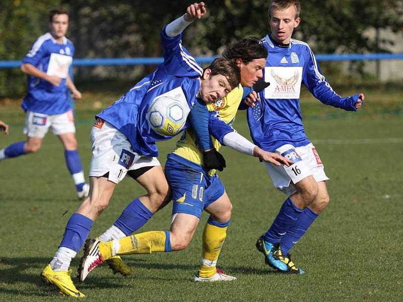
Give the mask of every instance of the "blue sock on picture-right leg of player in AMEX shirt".
M 281 252 L 287 255 L 291 248 L 301 239 L 308 231 L 309 226 L 317 218 L 319 214 L 306 207 L 305 210 L 298 216 L 297 221 L 287 231 L 287 234 L 281 240 Z

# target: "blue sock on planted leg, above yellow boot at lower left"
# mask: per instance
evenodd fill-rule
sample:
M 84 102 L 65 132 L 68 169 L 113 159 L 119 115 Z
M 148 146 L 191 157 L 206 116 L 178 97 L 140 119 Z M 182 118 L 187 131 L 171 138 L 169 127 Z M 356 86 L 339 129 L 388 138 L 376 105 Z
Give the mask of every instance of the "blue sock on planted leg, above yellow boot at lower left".
M 93 223 L 90 218 L 74 213 L 67 222 L 59 248 L 69 248 L 78 253 L 90 234 Z

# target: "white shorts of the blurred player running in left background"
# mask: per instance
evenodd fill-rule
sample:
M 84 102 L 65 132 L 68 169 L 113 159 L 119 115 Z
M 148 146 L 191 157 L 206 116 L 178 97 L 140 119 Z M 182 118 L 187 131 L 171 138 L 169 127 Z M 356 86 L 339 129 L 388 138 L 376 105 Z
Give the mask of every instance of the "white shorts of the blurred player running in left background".
M 24 133 L 28 137 L 45 137 L 45 134 L 52 129 L 54 135 L 64 133 L 75 133 L 73 110 L 69 110 L 62 114 L 43 114 L 27 111 L 25 116 Z

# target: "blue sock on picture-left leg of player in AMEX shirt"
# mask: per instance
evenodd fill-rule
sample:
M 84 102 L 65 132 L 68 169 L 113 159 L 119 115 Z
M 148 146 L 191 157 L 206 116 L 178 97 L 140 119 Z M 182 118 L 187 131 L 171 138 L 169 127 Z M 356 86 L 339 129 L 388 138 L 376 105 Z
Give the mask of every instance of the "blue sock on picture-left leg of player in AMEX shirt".
M 272 226 L 264 234 L 264 240 L 273 244 L 280 243 L 282 237 L 288 232 L 303 211 L 303 209 L 297 208 L 291 198 L 288 197 L 281 206 L 280 212 L 274 219 Z

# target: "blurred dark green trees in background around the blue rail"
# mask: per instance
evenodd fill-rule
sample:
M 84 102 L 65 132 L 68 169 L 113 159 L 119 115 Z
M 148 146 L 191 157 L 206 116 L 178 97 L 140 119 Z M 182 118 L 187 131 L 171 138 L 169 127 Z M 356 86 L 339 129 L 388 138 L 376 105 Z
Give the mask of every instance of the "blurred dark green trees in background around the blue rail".
M 3 0 L 0 12 L 0 56 L 24 57 L 36 37 L 47 30 L 47 13 L 58 5 L 70 11 L 68 37 L 76 58 L 161 56 L 161 28 L 185 13 L 190 1 L 163 0 Z M 189 27 L 183 44 L 194 55 L 220 54 L 225 45 L 245 36 L 263 37 L 269 31 L 269 0 L 205 1 L 209 16 Z M 403 29 L 401 0 L 301 0 L 301 24 L 295 37 L 310 43 L 315 53 L 383 52 L 393 44 L 373 39 L 368 29 Z M 100 74 L 127 78 L 154 66 L 80 68 L 80 77 Z M 140 68 L 140 69 L 139 69 Z M 107 70 L 107 72 L 105 72 Z M 140 71 L 139 71 L 140 70 Z M 0 96 L 21 94 L 23 75 L 17 69 L 0 69 Z

